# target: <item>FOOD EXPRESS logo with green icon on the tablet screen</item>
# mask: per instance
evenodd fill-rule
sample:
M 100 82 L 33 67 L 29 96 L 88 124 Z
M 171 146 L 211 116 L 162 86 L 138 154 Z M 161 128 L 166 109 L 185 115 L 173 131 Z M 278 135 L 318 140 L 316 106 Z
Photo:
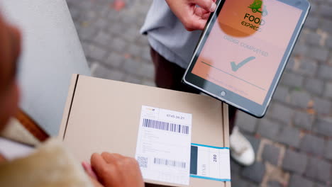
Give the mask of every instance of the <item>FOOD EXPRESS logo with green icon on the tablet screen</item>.
M 254 0 L 253 4 L 250 4 L 248 8 L 253 11 L 257 15 L 257 13 L 262 14 L 262 16 L 267 16 L 267 8 L 266 6 L 262 6 L 262 0 Z M 250 13 L 245 13 L 244 19 L 245 21 L 241 22 L 242 26 L 252 28 L 253 30 L 256 30 L 258 32 L 262 31 L 262 27 L 265 25 L 265 21 L 262 19 L 262 16 L 253 16 L 250 15 Z

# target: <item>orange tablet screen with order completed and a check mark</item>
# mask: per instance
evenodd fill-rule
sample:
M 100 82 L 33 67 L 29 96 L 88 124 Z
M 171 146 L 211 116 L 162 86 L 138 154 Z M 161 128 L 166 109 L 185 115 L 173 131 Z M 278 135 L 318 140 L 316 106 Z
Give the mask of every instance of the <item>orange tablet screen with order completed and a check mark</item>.
M 226 0 L 192 73 L 262 105 L 301 13 L 276 0 Z

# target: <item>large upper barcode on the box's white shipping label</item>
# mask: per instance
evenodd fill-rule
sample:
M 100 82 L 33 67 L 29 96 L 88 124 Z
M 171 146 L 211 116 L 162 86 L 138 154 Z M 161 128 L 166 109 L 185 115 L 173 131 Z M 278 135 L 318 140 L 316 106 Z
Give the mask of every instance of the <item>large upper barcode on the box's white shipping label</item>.
M 143 119 L 143 127 L 179 132 L 186 135 L 189 134 L 189 126 L 187 125 L 177 125 L 175 123 L 167 123 L 157 120 Z

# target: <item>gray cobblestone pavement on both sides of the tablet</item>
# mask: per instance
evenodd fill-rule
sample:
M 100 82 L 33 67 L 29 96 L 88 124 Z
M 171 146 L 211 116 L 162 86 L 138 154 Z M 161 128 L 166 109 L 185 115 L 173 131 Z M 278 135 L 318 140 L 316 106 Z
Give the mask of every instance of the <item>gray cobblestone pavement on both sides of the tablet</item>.
M 118 12 L 113 0 L 67 0 L 94 76 L 155 86 L 138 32 L 152 0 L 126 1 Z M 257 157 L 231 163 L 233 186 L 332 186 L 332 0 L 314 0 L 266 117 L 236 123 Z

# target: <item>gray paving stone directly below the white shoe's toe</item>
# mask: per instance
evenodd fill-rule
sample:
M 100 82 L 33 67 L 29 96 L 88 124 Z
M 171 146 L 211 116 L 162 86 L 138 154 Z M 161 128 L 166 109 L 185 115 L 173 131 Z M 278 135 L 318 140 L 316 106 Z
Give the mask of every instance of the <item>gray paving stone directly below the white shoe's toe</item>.
M 255 164 L 245 167 L 242 171 L 242 176 L 245 179 L 261 183 L 265 174 L 265 165 L 262 162 L 255 162 Z

